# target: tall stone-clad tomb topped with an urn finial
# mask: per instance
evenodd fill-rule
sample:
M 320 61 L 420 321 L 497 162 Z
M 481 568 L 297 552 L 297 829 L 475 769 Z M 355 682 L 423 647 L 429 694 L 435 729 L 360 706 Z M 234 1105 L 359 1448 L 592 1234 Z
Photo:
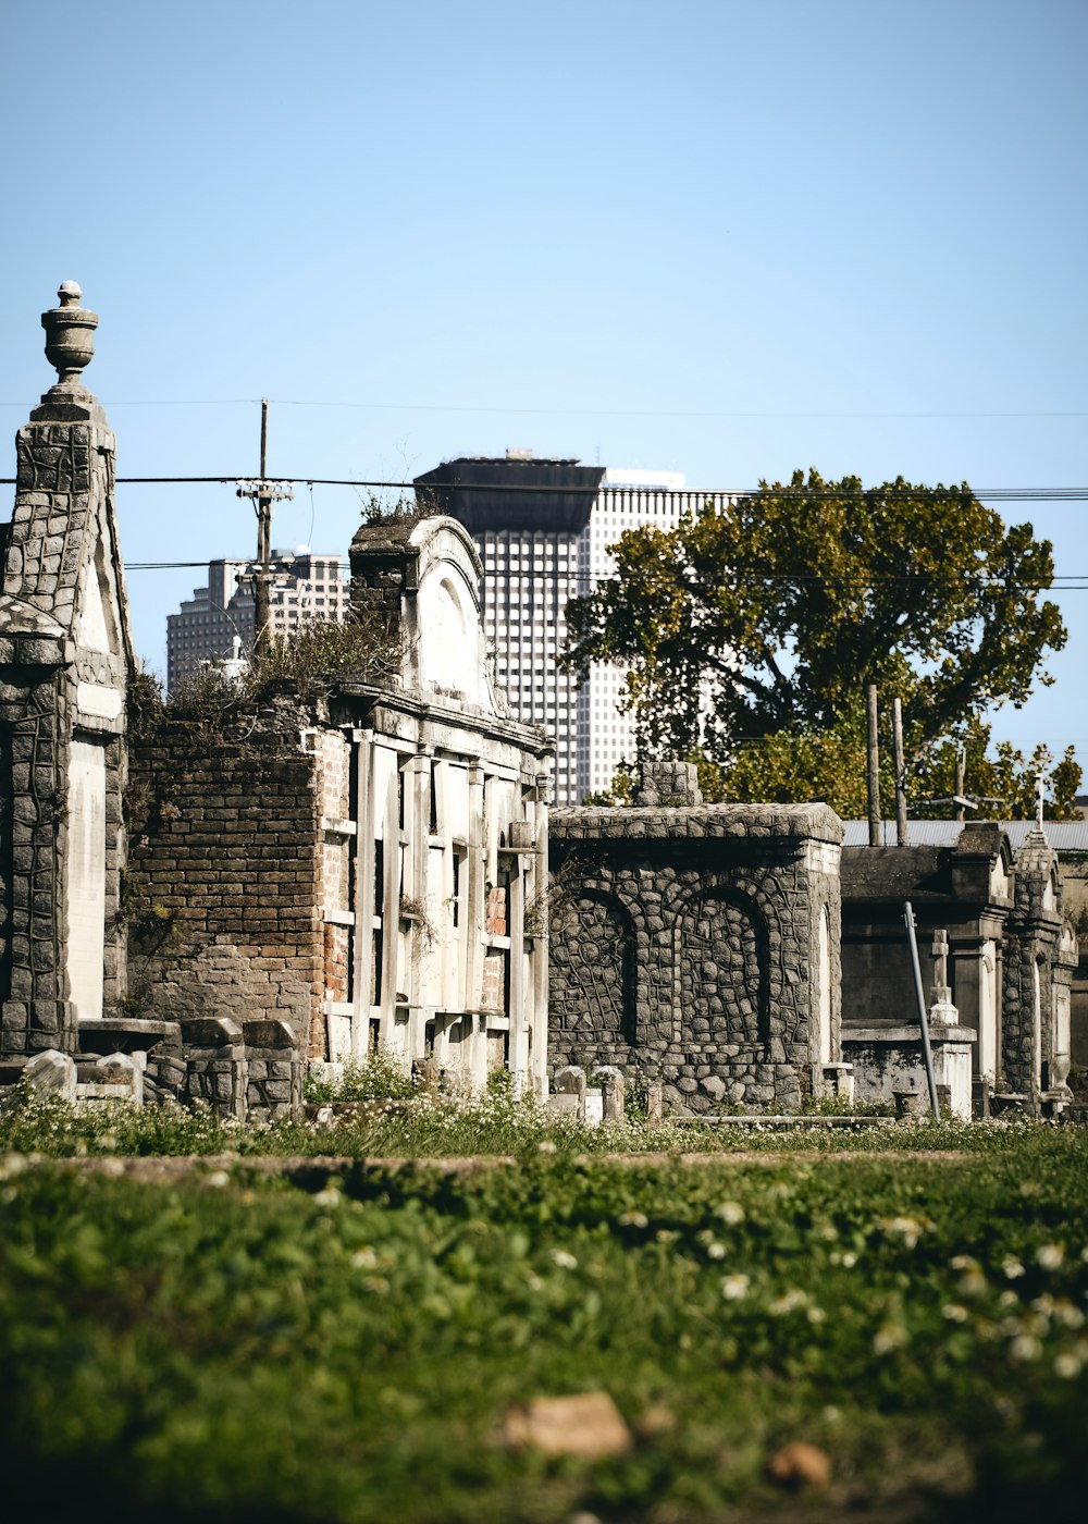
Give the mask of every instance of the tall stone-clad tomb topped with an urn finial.
M 123 864 L 125 683 L 133 655 L 113 518 L 114 437 L 79 379 L 93 355 L 98 317 L 79 306 L 75 282 L 66 280 L 58 296 L 59 306 L 41 315 L 58 383 L 15 439 L 15 511 L 0 593 L 6 733 L 0 756 L 6 796 L 0 817 L 0 951 L 6 954 L 0 962 L 0 1053 L 6 1058 L 44 1049 L 75 1052 L 79 1017 L 102 1015 L 107 963 L 108 994 L 125 988 L 116 911 Z M 88 806 L 91 774 L 98 783 Z M 76 846 L 104 884 L 69 882 Z M 94 890 L 93 925 L 88 890 Z

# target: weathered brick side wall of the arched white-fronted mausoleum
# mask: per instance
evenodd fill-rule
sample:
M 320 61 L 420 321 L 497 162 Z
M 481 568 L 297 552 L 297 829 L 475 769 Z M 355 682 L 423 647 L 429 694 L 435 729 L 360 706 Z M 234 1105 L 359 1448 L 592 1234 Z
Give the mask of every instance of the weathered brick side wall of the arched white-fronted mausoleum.
M 236 744 L 166 725 L 133 742 L 130 773 L 145 814 L 130 847 L 130 980 L 148 977 L 148 1015 L 283 1020 L 322 1056 L 314 756 L 286 739 Z M 152 907 L 174 924 L 158 948 Z

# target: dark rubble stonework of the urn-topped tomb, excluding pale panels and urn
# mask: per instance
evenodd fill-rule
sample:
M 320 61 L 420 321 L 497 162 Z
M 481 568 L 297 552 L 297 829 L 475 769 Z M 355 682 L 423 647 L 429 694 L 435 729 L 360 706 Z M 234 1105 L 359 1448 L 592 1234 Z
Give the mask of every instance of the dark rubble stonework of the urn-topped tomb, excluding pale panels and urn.
M 93 399 L 91 399 L 93 402 Z M 117 919 L 125 856 L 123 695 L 131 669 L 113 512 L 114 439 L 101 408 L 72 421 L 50 402 L 20 428 L 11 526 L 0 527 L 0 1055 L 75 1052 L 67 927 L 72 744 L 105 754 L 104 986 L 125 992 L 125 930 Z M 78 411 L 78 410 L 75 410 Z M 110 649 L 78 645 L 81 602 L 98 578 Z M 79 710 L 79 693 L 113 689 L 116 710 Z

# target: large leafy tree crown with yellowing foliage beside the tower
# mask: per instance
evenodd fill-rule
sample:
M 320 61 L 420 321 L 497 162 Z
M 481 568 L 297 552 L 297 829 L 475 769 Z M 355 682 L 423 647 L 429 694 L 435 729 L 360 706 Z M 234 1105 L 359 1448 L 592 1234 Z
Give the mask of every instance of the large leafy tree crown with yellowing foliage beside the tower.
M 862 488 L 798 471 L 728 512 L 628 530 L 617 570 L 567 607 L 567 666 L 629 672 L 642 756 L 739 764 L 766 738 L 830 751 L 866 684 L 899 693 L 917 762 L 1001 703 L 1022 704 L 1067 631 L 1042 594 L 1048 541 L 971 489 Z M 850 768 L 853 764 L 850 764 Z

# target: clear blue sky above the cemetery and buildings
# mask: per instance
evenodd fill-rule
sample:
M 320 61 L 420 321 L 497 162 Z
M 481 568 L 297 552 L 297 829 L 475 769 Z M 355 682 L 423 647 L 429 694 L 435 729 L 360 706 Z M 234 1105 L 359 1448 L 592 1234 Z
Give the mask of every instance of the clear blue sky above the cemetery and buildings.
M 122 475 L 254 474 L 270 396 L 277 475 L 520 445 L 1083 486 L 1085 58 L 1083 0 L 6 0 L 0 475 L 75 279 Z M 119 512 L 128 561 L 254 543 L 226 488 Z M 1088 576 L 1088 504 L 1004 512 Z M 303 488 L 274 541 L 358 517 Z M 131 573 L 152 666 L 200 581 Z M 1088 770 L 1061 604 L 1056 686 L 997 733 Z

